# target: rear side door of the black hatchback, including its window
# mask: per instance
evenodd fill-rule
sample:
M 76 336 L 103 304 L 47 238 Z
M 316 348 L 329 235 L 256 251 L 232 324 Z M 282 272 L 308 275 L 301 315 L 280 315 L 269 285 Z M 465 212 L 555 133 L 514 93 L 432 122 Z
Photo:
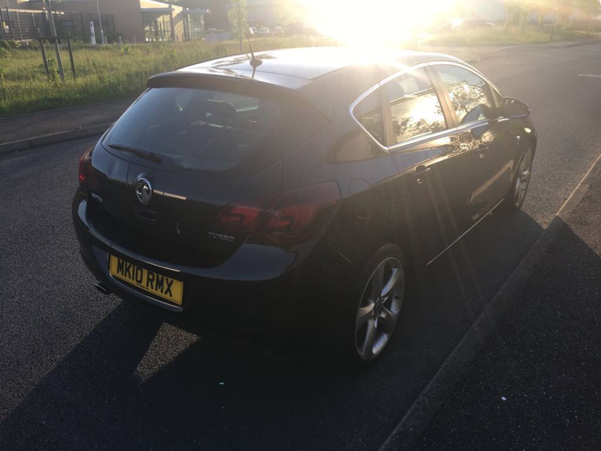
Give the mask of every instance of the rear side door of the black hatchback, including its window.
M 448 105 L 441 102 L 427 67 L 380 84 L 386 141 L 399 173 L 419 253 L 430 261 L 468 227 L 472 159 L 453 132 Z

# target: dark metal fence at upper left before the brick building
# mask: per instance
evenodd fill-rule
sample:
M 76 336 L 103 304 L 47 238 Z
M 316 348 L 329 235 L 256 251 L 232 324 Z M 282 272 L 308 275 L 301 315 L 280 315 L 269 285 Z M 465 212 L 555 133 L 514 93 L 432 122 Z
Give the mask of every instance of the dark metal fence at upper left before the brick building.
M 94 22 L 96 35 L 99 35 L 98 14 L 76 13 L 74 11 L 52 11 L 56 34 L 90 39 L 90 22 Z M 102 29 L 110 40 L 117 39 L 115 18 L 112 14 L 100 14 Z M 50 35 L 50 25 L 46 11 L 11 10 L 0 8 L 0 40 L 14 39 L 26 41 L 38 36 Z

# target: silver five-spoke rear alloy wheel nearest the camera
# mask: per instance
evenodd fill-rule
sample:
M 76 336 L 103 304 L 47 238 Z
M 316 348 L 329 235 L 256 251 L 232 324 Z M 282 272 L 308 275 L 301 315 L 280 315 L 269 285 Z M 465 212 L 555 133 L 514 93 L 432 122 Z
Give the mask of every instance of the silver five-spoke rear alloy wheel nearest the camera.
M 396 257 L 383 260 L 371 274 L 355 320 L 355 345 L 363 360 L 377 357 L 390 340 L 401 313 L 404 289 L 404 269 Z

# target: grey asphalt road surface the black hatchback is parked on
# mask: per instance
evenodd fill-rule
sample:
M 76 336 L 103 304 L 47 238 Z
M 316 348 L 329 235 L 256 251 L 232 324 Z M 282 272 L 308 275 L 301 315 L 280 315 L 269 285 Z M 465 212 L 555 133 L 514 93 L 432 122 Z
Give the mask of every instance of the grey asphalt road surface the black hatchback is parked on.
M 478 64 L 532 109 L 523 212 L 494 215 L 413 287 L 379 363 L 340 369 L 195 336 L 94 290 L 70 218 L 93 140 L 0 156 L 2 449 L 377 450 L 601 150 L 601 45 Z M 241 293 L 243 295 L 243 293 Z

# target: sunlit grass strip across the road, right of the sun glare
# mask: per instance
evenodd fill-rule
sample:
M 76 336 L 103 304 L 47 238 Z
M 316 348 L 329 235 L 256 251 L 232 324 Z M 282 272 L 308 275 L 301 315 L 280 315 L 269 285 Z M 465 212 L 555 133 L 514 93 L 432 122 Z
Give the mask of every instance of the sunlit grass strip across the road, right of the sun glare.
M 587 37 L 582 32 L 556 29 L 554 41 L 571 41 Z M 420 43 L 429 46 L 482 46 L 486 44 L 542 44 L 550 41 L 549 32 L 537 33 L 526 31 L 522 33 L 518 28 L 511 28 L 505 32 L 502 26 L 495 28 L 480 28 L 468 31 L 457 31 L 447 34 L 436 34 L 421 40 Z

